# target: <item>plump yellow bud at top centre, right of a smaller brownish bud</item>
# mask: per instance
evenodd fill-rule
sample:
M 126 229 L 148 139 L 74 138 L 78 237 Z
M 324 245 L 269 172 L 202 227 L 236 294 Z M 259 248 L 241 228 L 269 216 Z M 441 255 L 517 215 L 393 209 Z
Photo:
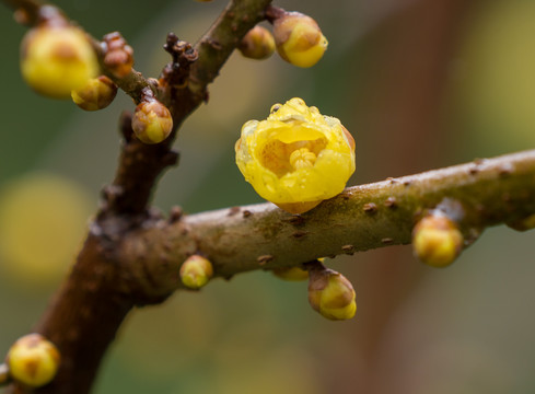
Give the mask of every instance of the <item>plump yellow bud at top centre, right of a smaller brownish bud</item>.
M 299 12 L 286 12 L 274 21 L 277 51 L 298 67 L 312 67 L 327 49 L 327 38 L 316 21 Z

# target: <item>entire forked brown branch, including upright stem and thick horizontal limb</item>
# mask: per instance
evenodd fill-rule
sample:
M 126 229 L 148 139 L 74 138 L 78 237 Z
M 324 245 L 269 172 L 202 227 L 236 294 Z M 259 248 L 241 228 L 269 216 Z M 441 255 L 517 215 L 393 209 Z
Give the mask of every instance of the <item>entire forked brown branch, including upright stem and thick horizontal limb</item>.
M 26 8 L 28 24 L 38 19 L 38 2 L 4 1 L 19 10 Z M 416 220 L 444 201 L 454 207 L 468 243 L 486 227 L 535 213 L 535 151 L 350 187 L 301 216 L 270 204 L 184 218 L 175 215 L 167 220 L 149 212 L 158 178 L 177 160 L 171 149 L 176 130 L 207 100 L 207 85 L 243 35 L 265 19 L 269 3 L 231 1 L 195 46 L 199 59 L 191 65 L 187 83 L 160 92 L 175 124 L 165 142 L 146 146 L 131 138 L 129 117 L 124 116 L 125 144 L 115 181 L 104 190 L 104 205 L 71 275 L 36 327 L 58 346 L 59 373 L 42 389 L 31 391 L 13 383 L 11 392 L 88 393 L 126 314 L 135 305 L 162 302 L 181 288 L 178 268 L 194 253 L 206 255 L 217 276 L 230 278 L 253 269 L 407 244 Z M 151 84 L 133 70 L 116 82 L 135 100 Z

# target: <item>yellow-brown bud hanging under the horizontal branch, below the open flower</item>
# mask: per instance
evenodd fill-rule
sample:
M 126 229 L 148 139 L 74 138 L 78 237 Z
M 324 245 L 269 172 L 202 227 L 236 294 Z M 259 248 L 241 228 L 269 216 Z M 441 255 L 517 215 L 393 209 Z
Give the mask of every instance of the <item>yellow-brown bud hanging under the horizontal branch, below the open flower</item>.
M 313 268 L 309 275 L 309 302 L 315 311 L 334 321 L 354 316 L 354 290 L 344 275 L 326 268 Z

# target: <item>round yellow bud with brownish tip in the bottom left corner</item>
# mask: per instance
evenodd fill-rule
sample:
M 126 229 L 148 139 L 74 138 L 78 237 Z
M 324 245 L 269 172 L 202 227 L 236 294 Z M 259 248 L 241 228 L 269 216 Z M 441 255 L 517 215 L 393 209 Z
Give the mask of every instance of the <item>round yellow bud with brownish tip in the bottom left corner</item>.
M 30 334 L 11 346 L 7 362 L 11 376 L 31 387 L 49 383 L 59 368 L 59 351 L 39 334 Z

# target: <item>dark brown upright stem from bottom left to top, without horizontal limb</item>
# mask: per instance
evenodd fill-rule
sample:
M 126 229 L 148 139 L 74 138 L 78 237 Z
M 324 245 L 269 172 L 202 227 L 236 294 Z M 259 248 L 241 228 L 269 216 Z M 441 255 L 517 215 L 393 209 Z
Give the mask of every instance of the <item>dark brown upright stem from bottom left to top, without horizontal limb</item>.
M 27 25 L 38 23 L 42 3 L 35 0 L 4 0 L 19 14 L 18 21 Z M 133 305 L 162 302 L 167 294 L 147 294 L 137 289 L 138 278 L 127 270 L 118 246 L 129 231 L 152 227 L 159 218 L 148 209 L 158 178 L 176 163 L 171 146 L 182 121 L 207 100 L 207 85 L 237 46 L 242 36 L 263 20 L 261 10 L 270 0 L 234 0 L 198 44 L 199 65 L 191 67 L 188 83 L 182 89 L 164 88 L 159 99 L 170 107 L 174 131 L 167 140 L 147 146 L 132 138 L 130 117 L 121 118 L 125 137 L 119 166 L 111 186 L 103 190 L 104 204 L 91 227 L 71 275 L 54 298 L 36 332 L 49 338 L 60 350 L 61 364 L 55 380 L 40 389 L 31 390 L 13 382 L 11 393 L 84 394 L 91 390 L 101 359 L 114 339 L 124 317 Z M 93 39 L 93 38 L 92 38 Z M 100 43 L 93 46 L 101 58 Z M 116 78 L 104 72 L 139 101 L 139 92 L 150 80 L 132 70 Z M 203 70 L 206 68 L 206 71 Z M 201 70 L 202 69 L 202 70 Z M 125 269 L 127 268 L 127 269 Z M 150 273 L 148 273 L 150 275 Z

